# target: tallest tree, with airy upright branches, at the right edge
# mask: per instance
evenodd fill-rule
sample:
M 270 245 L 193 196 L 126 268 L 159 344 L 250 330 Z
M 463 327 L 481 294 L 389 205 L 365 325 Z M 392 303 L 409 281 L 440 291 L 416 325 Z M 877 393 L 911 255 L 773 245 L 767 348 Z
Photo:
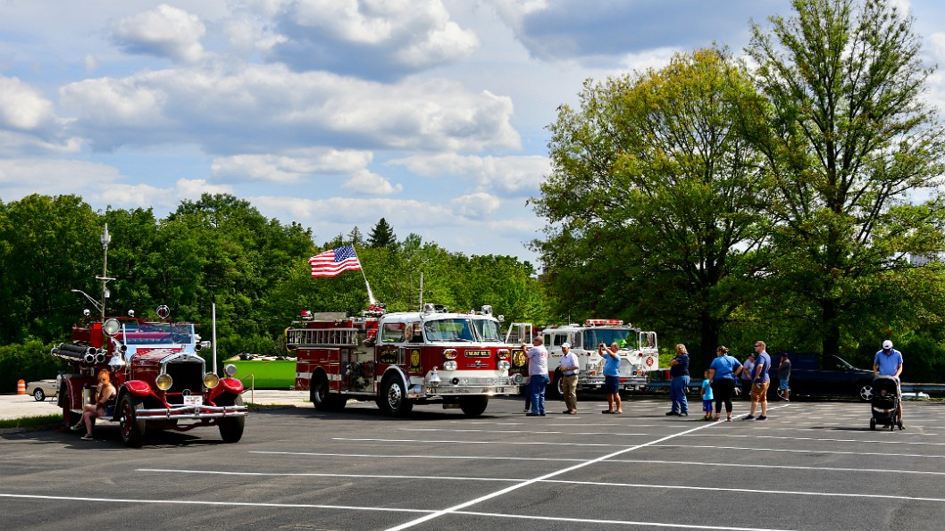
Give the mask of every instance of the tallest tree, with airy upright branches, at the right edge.
M 942 182 L 945 131 L 921 98 L 932 70 L 911 17 L 881 0 L 853 5 L 794 0 L 795 16 L 753 25 L 747 48 L 773 107 L 752 135 L 776 183 L 772 271 L 826 353 L 887 313 L 877 287 L 907 280 L 896 274 L 907 253 L 942 248 L 940 199 L 908 202 Z

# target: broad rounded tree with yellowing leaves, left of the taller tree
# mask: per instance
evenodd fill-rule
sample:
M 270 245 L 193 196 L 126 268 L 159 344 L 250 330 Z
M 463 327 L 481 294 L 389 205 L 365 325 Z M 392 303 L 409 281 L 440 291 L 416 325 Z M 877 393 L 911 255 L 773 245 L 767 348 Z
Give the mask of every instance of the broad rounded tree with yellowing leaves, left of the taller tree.
M 558 110 L 535 242 L 559 317 L 656 319 L 713 351 L 765 266 L 763 105 L 721 49 L 585 84 Z M 692 348 L 690 351 L 694 351 Z

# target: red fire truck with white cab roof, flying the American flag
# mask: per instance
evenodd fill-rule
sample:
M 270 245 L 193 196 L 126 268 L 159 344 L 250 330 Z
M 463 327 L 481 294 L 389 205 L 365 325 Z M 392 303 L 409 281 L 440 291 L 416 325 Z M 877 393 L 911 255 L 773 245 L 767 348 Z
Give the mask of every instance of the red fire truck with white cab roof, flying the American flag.
M 360 317 L 306 311 L 293 324 L 285 344 L 296 353 L 295 386 L 309 390 L 319 411 L 359 399 L 389 415 L 438 402 L 477 417 L 490 397 L 515 394 L 522 384 L 508 373 L 511 348 L 490 306 L 455 314 L 424 304 L 421 312 L 388 314 L 372 304 Z

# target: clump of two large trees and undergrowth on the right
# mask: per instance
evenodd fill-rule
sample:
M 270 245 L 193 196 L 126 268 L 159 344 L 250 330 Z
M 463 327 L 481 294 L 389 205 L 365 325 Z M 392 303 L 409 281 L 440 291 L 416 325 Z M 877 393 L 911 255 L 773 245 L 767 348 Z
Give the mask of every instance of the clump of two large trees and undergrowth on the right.
M 743 58 L 679 53 L 558 108 L 532 242 L 549 300 L 656 323 L 697 366 L 764 339 L 871 368 L 890 338 L 905 378 L 942 379 L 945 130 L 914 21 L 792 7 Z

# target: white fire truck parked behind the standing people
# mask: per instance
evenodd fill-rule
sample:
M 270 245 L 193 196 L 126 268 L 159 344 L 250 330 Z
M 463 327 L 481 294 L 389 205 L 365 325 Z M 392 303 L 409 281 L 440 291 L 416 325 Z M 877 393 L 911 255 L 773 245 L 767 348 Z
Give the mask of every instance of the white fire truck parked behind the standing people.
M 619 319 L 587 319 L 584 324 L 572 323 L 549 326 L 541 331 L 544 346 L 548 349 L 548 376 L 552 393 L 561 394 L 561 345 L 571 344 L 576 355 L 577 388 L 604 387 L 604 358 L 598 353 L 601 343 L 610 347 L 619 346 L 620 388 L 640 390 L 646 386 L 650 372 L 659 368 L 660 353 L 655 332 L 642 331 Z

